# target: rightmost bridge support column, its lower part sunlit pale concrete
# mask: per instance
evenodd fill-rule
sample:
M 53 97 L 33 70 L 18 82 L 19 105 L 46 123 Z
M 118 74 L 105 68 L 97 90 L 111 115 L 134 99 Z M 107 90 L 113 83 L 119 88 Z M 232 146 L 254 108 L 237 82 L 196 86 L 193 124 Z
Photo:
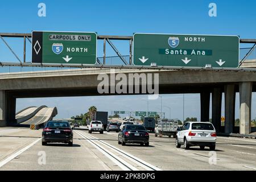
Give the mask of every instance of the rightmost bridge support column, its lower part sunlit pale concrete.
M 240 92 L 240 134 L 251 133 L 251 82 L 241 82 Z

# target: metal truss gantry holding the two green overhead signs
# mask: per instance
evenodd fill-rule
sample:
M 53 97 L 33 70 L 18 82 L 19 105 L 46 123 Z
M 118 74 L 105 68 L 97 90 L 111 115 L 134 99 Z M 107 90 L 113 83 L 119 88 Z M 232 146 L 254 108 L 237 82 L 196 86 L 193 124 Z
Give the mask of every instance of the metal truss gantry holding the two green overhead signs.
M 75 65 L 75 64 L 70 64 L 70 65 L 64 65 L 64 64 L 34 64 L 32 65 L 31 63 L 26 63 L 26 41 L 28 40 L 30 43 L 31 42 L 31 34 L 19 34 L 19 33 L 0 33 L 0 38 L 3 40 L 3 43 L 6 44 L 6 46 L 10 49 L 10 51 L 14 54 L 14 56 L 16 57 L 16 59 L 19 61 L 19 63 L 10 63 L 10 62 L 6 62 L 6 61 L 2 61 L 0 60 L 0 66 L 18 66 L 18 67 L 76 67 L 76 68 L 86 68 L 88 67 L 88 65 Z M 19 58 L 19 56 L 14 52 L 14 50 L 10 47 L 10 45 L 6 42 L 6 40 L 4 38 L 22 38 L 23 39 L 23 60 Z M 102 62 L 100 61 L 99 57 L 97 57 L 97 65 L 93 65 L 90 67 L 100 67 L 100 68 L 138 68 L 138 69 L 204 69 L 203 67 L 185 67 L 185 66 L 156 66 L 156 67 L 151 67 L 150 65 L 139 65 L 139 66 L 135 66 L 133 64 L 133 36 L 111 36 L 111 35 L 97 35 L 97 40 L 103 40 L 103 57 L 102 57 Z M 118 51 L 117 47 L 114 46 L 114 44 L 112 43 L 112 40 L 127 40 L 129 41 L 129 61 L 127 61 L 125 59 L 124 56 L 121 55 L 121 53 Z M 122 61 L 122 65 L 110 65 L 110 64 L 106 64 L 106 43 L 109 44 L 110 47 L 112 47 L 112 49 L 114 50 L 115 53 L 117 53 L 117 56 L 119 57 L 119 59 Z M 255 47 L 256 47 L 256 39 L 240 39 L 240 43 L 247 43 L 247 44 L 254 44 L 253 47 L 250 48 L 250 51 L 248 53 L 246 53 L 246 55 L 243 57 L 243 59 L 240 61 L 239 65 L 242 64 L 242 62 L 246 59 L 246 57 L 248 55 L 250 55 L 250 52 L 252 52 Z M 142 57 L 143 59 L 143 57 Z M 145 57 L 146 59 L 146 57 Z M 224 70 L 226 68 L 214 68 L 214 69 L 218 69 L 218 70 Z M 232 69 L 232 68 L 228 68 L 228 69 Z M 242 70 L 247 70 L 247 69 L 243 69 L 243 68 L 233 68 L 235 71 L 240 71 Z M 254 70 L 255 71 L 255 70 Z

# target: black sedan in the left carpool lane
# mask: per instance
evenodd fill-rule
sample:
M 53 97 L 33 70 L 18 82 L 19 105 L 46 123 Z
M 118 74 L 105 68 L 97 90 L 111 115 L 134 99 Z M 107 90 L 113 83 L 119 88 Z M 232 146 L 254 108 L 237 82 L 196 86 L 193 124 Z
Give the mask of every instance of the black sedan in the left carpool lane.
M 42 145 L 47 143 L 68 143 L 73 146 L 73 131 L 67 121 L 49 121 L 42 133 Z

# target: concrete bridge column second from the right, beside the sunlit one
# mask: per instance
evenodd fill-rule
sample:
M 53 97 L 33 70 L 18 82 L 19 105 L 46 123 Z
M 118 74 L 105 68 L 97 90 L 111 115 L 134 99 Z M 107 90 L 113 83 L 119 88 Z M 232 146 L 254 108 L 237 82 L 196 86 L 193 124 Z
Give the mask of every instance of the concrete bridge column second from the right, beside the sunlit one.
M 225 85 L 225 133 L 233 132 L 235 101 L 234 85 Z

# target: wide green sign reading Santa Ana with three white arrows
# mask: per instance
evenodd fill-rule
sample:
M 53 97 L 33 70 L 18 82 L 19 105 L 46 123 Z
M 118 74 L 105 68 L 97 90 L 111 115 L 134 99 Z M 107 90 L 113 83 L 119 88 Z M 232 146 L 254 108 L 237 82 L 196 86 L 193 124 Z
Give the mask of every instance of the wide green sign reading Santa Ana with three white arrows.
M 238 36 L 136 33 L 133 40 L 134 65 L 238 67 Z

